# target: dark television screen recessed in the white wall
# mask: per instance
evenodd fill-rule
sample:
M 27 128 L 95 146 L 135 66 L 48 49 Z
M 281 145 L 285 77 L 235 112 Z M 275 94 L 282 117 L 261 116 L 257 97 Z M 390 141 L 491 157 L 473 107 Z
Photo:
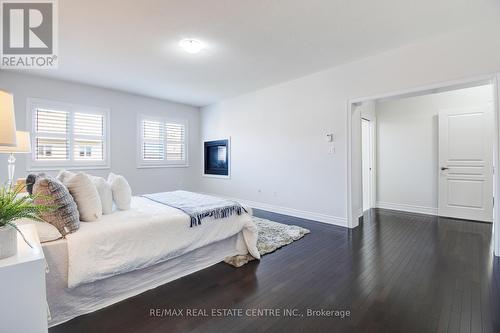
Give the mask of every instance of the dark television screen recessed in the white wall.
M 205 174 L 229 176 L 229 140 L 205 141 Z

